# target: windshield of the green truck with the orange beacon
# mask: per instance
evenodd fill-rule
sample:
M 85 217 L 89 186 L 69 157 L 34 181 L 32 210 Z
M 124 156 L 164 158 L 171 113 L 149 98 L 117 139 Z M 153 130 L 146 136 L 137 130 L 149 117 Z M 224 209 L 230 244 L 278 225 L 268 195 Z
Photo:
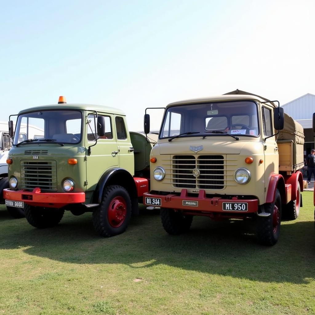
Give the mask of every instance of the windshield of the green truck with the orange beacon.
M 82 135 L 82 113 L 73 110 L 49 110 L 18 117 L 13 145 L 32 143 L 78 143 Z M 23 145 L 23 144 L 22 144 Z

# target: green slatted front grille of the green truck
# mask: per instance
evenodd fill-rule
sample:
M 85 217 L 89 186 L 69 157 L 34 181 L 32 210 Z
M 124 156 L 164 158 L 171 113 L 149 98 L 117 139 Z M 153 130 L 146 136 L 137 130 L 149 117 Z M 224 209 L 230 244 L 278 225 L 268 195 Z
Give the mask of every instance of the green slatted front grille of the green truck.
M 42 191 L 57 191 L 56 161 L 21 161 L 21 187 Z

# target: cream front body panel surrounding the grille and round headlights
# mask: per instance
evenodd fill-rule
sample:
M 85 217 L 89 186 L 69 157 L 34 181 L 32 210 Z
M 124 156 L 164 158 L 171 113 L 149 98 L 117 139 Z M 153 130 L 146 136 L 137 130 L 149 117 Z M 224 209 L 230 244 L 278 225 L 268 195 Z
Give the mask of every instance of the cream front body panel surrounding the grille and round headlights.
M 165 141 L 165 140 L 164 140 Z M 173 142 L 174 141 L 174 142 Z M 174 139 L 169 142 L 159 143 L 154 146 L 151 151 L 151 157 L 156 157 L 157 162 L 151 163 L 150 167 L 153 170 L 157 166 L 162 166 L 165 169 L 165 178 L 158 182 L 154 180 L 151 171 L 151 190 L 163 191 L 163 192 L 181 192 L 182 188 L 174 186 L 171 180 L 172 173 L 172 158 L 174 155 L 192 155 L 198 157 L 200 155 L 222 155 L 226 161 L 225 166 L 225 185 L 223 189 L 205 189 L 207 194 L 220 194 L 220 195 L 247 195 L 255 196 L 259 200 L 259 204 L 265 202 L 265 165 L 260 163 L 260 160 L 264 160 L 264 147 L 259 138 L 252 138 L 251 140 L 235 140 L 233 141 L 222 141 L 218 140 L 217 137 L 212 139 L 197 140 L 194 137 L 186 139 Z M 176 141 L 176 142 L 175 142 Z M 199 146 L 203 144 L 203 150 L 197 153 L 189 150 L 188 144 Z M 172 152 L 169 153 L 169 147 Z M 246 157 L 253 157 L 254 162 L 251 164 L 245 163 Z M 234 172 L 238 168 L 246 168 L 251 173 L 251 179 L 247 184 L 238 184 L 234 179 Z M 200 188 L 202 189 L 202 188 Z M 195 193 L 198 195 L 200 189 L 187 189 L 189 193 Z M 197 191 L 196 191 L 197 190 Z

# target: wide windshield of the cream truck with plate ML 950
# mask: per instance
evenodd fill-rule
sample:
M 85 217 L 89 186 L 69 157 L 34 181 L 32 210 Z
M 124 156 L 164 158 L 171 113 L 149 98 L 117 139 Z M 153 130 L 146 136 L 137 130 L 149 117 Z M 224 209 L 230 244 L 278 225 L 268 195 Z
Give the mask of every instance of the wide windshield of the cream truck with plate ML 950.
M 164 115 L 161 138 L 187 132 L 188 136 L 259 135 L 257 104 L 253 101 L 186 104 L 169 107 Z M 220 133 L 212 133 L 220 131 Z M 222 132 L 222 133 L 221 133 Z M 185 137 L 187 135 L 181 135 Z

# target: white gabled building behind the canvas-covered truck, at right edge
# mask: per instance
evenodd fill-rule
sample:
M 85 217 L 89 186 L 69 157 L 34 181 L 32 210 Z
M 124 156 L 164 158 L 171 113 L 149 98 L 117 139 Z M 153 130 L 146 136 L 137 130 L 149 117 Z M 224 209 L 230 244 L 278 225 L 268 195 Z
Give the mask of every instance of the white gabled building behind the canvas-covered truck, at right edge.
M 315 95 L 307 93 L 283 106 L 284 112 L 299 122 L 304 128 L 305 144 L 304 155 L 311 153 L 315 148 L 312 117 L 315 112 Z

